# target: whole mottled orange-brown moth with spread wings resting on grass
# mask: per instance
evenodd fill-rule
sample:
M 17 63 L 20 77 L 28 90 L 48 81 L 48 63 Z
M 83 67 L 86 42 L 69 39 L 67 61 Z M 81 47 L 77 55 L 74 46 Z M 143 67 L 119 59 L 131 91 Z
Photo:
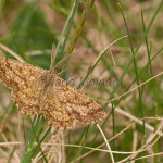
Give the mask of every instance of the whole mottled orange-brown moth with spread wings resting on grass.
M 52 70 L 0 58 L 0 80 L 12 89 L 18 111 L 42 114 L 55 129 L 72 128 L 74 122 L 98 122 L 105 116 L 99 104 Z

